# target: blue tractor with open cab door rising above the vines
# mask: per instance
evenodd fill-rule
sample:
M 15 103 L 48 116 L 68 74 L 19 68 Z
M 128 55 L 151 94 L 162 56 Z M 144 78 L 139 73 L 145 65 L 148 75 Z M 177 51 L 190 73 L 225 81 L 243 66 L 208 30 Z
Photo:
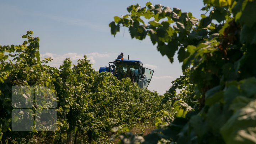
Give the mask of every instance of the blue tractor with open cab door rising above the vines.
M 140 88 L 146 89 L 151 81 L 154 70 L 145 68 L 139 60 L 116 59 L 111 65 L 100 67 L 99 73 L 103 71 L 111 72 L 119 80 L 129 77 L 132 82 L 136 82 Z

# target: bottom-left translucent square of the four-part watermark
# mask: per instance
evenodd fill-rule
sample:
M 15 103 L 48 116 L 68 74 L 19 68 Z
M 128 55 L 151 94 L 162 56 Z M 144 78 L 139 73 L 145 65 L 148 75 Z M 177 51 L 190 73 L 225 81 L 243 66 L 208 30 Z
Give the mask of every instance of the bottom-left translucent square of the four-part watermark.
M 34 112 L 28 109 L 12 110 L 12 131 L 32 131 L 34 128 Z

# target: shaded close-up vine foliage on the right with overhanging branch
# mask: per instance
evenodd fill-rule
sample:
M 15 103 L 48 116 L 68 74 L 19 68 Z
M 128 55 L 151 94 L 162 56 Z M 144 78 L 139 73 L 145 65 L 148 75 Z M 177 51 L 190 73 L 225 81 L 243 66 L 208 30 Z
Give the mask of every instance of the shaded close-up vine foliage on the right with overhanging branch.
M 183 73 L 190 68 L 181 82 L 193 86 L 186 85 L 189 91 L 183 92 L 192 107 L 193 101 L 199 106 L 140 142 L 256 143 L 256 1 L 203 2 L 200 19 L 147 2 L 145 7 L 129 6 L 129 14 L 115 16 L 109 25 L 114 36 L 120 27 L 128 27 L 135 39 L 148 36 L 171 63 L 177 52 Z M 174 89 L 164 101 L 175 98 Z

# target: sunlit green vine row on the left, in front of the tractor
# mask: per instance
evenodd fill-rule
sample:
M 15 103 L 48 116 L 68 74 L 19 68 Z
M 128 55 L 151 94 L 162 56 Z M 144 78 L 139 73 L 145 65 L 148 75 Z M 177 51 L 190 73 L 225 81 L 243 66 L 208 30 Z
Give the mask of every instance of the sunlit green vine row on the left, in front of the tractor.
M 129 78 L 99 74 L 86 55 L 75 66 L 68 58 L 59 68 L 47 65 L 52 59 L 40 59 L 39 38 L 32 34 L 22 36 L 26 40 L 21 45 L 0 46 L 0 143 L 108 142 L 113 127 L 147 123 L 161 107 L 157 92 L 140 89 Z M 54 92 L 56 131 L 12 131 L 11 92 L 16 85 L 40 85 Z

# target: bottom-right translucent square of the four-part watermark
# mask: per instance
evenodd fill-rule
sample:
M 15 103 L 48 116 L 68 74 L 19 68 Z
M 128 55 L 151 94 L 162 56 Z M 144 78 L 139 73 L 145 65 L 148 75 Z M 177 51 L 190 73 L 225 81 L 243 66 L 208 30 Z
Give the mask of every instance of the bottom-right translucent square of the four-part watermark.
M 57 129 L 57 110 L 36 110 L 36 130 L 55 131 Z

